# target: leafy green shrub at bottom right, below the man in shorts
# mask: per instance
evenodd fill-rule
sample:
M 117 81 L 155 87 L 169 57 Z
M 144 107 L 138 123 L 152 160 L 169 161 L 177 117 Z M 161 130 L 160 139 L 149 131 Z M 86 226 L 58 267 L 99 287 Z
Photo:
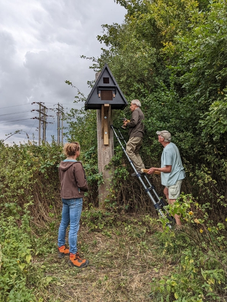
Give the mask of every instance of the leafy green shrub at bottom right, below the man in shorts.
M 210 204 L 200 205 L 191 195 L 183 195 L 168 206 L 171 215 L 181 215 L 184 225 L 176 231 L 164 227 L 164 232 L 158 234 L 157 250 L 173 265 L 167 276 L 152 279 L 154 301 L 225 300 L 225 226 L 214 224 L 207 213 L 209 207 Z

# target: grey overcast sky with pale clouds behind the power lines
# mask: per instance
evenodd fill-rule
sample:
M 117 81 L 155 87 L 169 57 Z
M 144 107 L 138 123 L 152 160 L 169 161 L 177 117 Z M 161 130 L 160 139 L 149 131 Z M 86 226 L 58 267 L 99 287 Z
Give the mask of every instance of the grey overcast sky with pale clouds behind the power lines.
M 98 57 L 96 36 L 102 24 L 121 24 L 125 9 L 114 0 L 0 0 L 0 140 L 11 144 L 38 140 L 39 109 L 73 104 L 77 89 L 87 96 L 87 81 L 95 78 L 92 63 L 80 55 Z M 35 104 L 31 105 L 31 103 Z M 68 109 L 67 109 L 68 108 Z M 48 110 L 47 140 L 57 135 L 56 112 Z

